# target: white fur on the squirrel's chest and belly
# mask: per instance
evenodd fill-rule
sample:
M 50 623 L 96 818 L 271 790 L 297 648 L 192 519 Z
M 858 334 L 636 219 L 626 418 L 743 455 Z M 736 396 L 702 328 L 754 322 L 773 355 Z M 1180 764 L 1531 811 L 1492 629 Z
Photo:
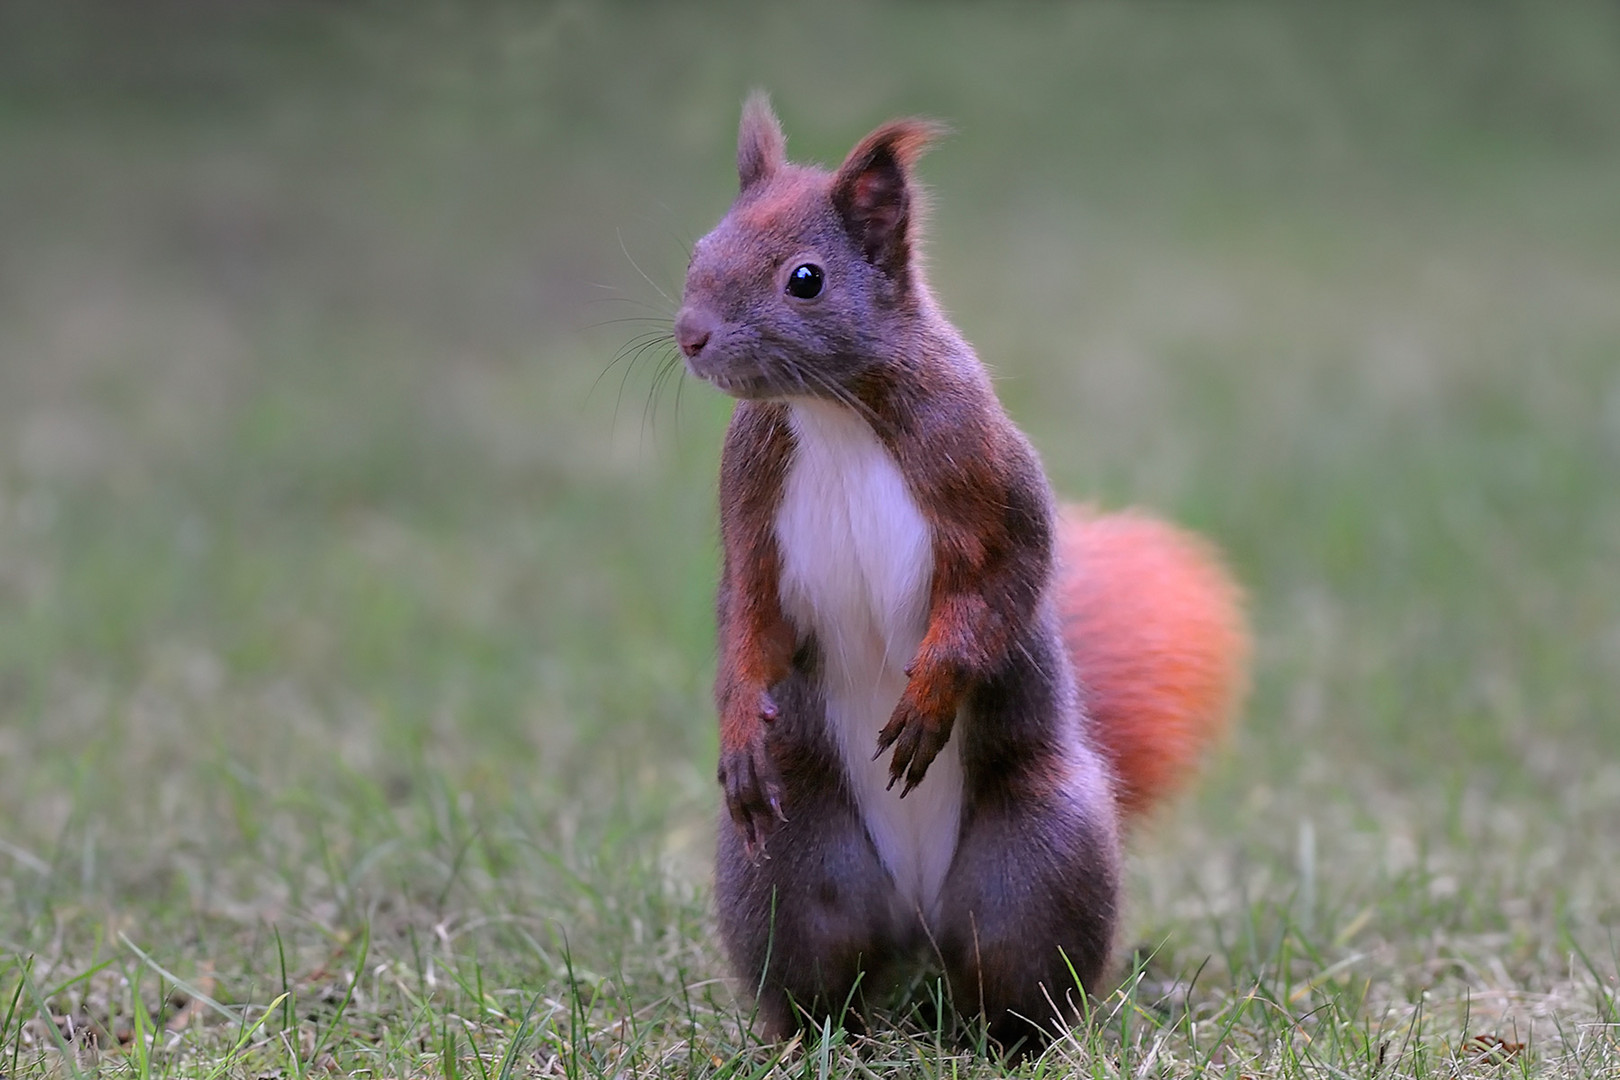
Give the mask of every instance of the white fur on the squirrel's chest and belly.
M 792 405 L 795 453 L 776 515 L 782 610 L 821 648 L 826 719 L 867 834 L 907 907 L 933 915 L 962 811 L 959 738 L 904 800 L 878 732 L 928 625 L 933 544 L 893 455 L 854 411 Z

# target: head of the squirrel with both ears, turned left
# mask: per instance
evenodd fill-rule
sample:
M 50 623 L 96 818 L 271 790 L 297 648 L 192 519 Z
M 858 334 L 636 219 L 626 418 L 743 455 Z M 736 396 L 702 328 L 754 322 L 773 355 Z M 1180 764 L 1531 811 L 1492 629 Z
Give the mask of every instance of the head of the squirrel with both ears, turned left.
M 912 165 L 940 133 L 894 120 L 826 172 L 787 162 L 770 102 L 752 96 L 737 199 L 687 267 L 676 317 L 687 369 L 739 398 L 847 398 L 893 363 L 928 306 Z

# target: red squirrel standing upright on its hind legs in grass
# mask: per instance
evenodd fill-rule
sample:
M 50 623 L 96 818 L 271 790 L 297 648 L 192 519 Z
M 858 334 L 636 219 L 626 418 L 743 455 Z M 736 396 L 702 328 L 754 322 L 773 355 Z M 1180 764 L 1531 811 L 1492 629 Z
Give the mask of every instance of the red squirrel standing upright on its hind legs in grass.
M 1226 725 L 1247 636 L 1200 539 L 1058 508 L 919 257 L 883 125 L 786 160 L 755 96 L 740 191 L 700 240 L 676 342 L 737 398 L 721 457 L 718 923 L 766 1033 L 919 954 L 1003 1046 L 1105 980 L 1121 831 Z

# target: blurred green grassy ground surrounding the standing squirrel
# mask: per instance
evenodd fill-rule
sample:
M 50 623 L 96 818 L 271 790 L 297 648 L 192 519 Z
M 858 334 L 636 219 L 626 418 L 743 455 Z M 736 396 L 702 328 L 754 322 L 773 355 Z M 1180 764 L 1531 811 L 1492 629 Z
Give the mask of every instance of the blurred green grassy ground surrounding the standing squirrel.
M 823 160 L 953 121 L 935 282 L 1058 486 L 1252 593 L 1152 959 L 1027 1069 L 1620 1069 L 1614 6 L 21 3 L 0 1075 L 996 1072 L 723 978 L 727 406 L 609 361 L 755 84 Z

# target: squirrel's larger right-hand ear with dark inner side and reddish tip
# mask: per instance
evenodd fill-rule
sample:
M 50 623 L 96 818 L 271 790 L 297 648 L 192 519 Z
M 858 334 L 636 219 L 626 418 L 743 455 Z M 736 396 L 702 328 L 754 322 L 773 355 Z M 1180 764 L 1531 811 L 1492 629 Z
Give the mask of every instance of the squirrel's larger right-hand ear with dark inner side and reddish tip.
M 901 279 L 910 266 L 910 223 L 917 214 L 912 164 L 944 128 L 928 120 L 894 120 L 855 149 L 833 178 L 833 206 L 867 261 Z

